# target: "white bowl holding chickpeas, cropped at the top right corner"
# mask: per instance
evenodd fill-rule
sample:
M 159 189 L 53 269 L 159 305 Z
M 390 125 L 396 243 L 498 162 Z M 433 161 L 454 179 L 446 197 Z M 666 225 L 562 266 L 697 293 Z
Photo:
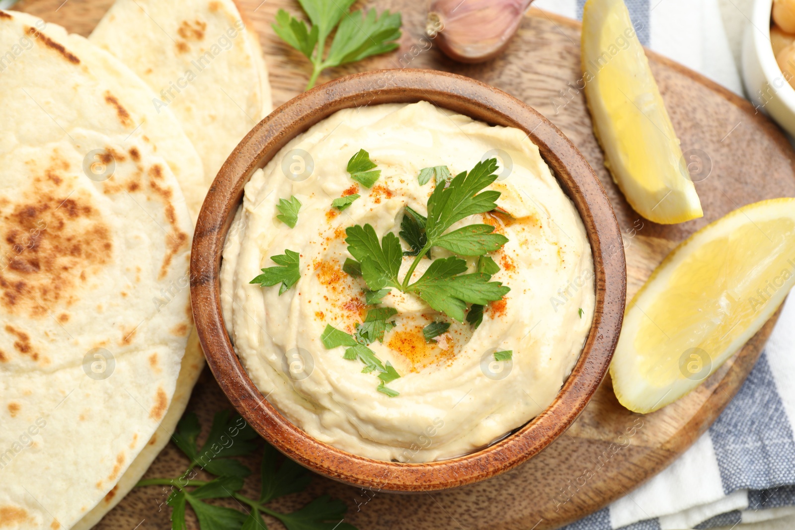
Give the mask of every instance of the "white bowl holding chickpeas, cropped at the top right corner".
M 770 46 L 772 0 L 756 0 L 743 39 L 743 82 L 758 111 L 795 135 L 795 89 L 778 68 Z

